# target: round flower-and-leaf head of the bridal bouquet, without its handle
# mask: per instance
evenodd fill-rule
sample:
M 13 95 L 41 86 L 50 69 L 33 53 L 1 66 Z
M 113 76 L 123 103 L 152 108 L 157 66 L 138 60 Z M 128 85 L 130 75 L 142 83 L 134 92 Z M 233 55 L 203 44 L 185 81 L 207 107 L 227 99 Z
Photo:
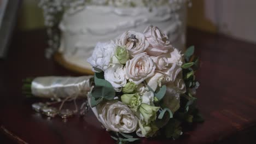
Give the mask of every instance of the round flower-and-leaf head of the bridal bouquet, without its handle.
M 127 31 L 98 43 L 88 62 L 95 72 L 89 104 L 113 139 L 165 135 L 177 139 L 182 122 L 201 121 L 194 101 L 199 60 L 194 47 L 184 54 L 158 27 Z

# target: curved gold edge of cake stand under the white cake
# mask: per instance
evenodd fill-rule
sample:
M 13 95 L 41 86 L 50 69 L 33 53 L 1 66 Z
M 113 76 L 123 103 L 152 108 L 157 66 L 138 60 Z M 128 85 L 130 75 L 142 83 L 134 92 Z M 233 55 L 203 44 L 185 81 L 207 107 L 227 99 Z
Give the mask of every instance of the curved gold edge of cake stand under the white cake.
M 84 74 L 84 75 L 94 75 L 94 72 L 91 69 L 85 69 L 83 67 L 79 67 L 78 65 L 72 64 L 67 62 L 61 53 L 56 52 L 54 54 L 54 60 L 62 65 L 62 67 L 65 67 L 66 69 L 69 69 L 71 71 L 74 71 L 76 73 Z

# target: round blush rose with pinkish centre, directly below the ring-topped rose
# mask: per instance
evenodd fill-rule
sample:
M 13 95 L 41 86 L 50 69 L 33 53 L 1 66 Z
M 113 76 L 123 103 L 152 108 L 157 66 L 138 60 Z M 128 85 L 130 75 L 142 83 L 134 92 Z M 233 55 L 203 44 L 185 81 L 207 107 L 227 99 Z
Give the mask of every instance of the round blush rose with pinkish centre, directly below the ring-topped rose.
M 155 64 L 146 53 L 136 55 L 134 58 L 126 62 L 125 75 L 130 81 L 138 85 L 148 77 L 153 76 Z

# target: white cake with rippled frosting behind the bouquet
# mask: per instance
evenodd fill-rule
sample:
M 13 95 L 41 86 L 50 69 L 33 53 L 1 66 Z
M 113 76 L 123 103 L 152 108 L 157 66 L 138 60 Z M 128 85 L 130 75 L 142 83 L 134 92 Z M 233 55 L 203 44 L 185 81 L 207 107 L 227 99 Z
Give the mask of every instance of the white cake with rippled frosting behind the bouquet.
M 143 32 L 150 25 L 162 29 L 172 45 L 183 50 L 186 6 L 186 0 L 92 0 L 65 11 L 59 25 L 59 52 L 66 62 L 91 69 L 86 59 L 98 41 L 109 41 L 128 30 Z

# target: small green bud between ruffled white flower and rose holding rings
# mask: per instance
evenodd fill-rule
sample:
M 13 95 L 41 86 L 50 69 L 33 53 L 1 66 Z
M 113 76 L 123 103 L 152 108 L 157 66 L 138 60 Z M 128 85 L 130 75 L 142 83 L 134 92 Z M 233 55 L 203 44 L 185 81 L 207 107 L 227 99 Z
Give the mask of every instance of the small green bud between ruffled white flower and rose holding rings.
M 115 50 L 115 57 L 117 57 L 118 61 L 121 64 L 125 64 L 128 59 L 129 59 L 129 53 L 126 50 L 126 47 L 122 47 L 122 46 L 117 46 L 116 50 Z

